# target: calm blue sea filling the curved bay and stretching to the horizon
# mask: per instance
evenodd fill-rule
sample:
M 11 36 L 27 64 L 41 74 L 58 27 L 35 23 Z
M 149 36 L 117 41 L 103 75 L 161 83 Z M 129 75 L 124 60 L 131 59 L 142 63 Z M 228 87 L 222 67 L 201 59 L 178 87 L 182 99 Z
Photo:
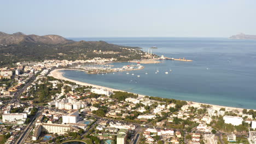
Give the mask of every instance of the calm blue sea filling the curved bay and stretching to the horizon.
M 146 52 L 156 46 L 158 49 L 152 49 L 156 55 L 184 57 L 193 62 L 164 60 L 157 64 L 141 64 L 144 69 L 128 71 L 129 74 L 123 71 L 92 75 L 83 71 L 63 70 L 63 76 L 68 79 L 154 97 L 256 109 L 256 40 L 141 37 L 72 39 L 138 46 Z M 131 64 L 136 63 L 111 65 L 123 67 Z

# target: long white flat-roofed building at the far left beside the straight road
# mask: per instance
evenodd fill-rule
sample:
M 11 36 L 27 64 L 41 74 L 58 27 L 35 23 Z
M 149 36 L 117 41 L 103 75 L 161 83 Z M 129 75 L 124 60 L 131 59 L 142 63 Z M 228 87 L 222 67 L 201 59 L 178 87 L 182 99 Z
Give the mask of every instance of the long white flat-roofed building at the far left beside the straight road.
M 4 113 L 2 118 L 3 122 L 26 121 L 27 113 Z

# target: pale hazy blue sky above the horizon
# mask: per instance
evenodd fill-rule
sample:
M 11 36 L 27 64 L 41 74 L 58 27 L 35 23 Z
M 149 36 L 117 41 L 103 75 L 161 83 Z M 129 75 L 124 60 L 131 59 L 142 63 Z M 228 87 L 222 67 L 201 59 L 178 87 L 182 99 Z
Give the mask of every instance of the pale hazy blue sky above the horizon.
M 1 0 L 0 31 L 67 38 L 256 35 L 256 1 Z

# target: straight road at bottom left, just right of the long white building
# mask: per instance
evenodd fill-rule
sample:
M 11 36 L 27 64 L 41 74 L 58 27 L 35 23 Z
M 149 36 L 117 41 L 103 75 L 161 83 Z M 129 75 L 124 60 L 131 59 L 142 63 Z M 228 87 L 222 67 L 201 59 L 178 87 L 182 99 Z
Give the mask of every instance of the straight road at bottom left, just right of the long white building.
M 36 116 L 34 116 L 32 121 L 30 122 L 30 124 L 28 124 L 27 127 L 22 131 L 22 133 L 20 134 L 18 139 L 14 142 L 14 144 L 24 143 L 24 141 L 27 139 L 27 136 L 30 134 L 30 131 L 32 130 L 32 128 L 36 124 L 37 119 L 40 115 L 42 115 L 42 112 L 40 110 L 38 110 Z

